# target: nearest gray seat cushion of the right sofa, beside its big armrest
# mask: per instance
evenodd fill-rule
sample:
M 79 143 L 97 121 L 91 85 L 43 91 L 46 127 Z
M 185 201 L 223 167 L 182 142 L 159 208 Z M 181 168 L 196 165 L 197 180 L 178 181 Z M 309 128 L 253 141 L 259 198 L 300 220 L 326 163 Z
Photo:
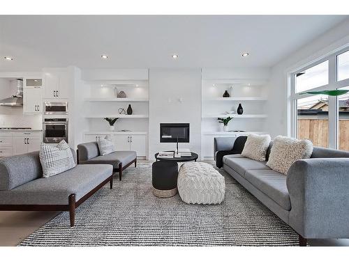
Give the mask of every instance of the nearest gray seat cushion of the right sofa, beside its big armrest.
M 272 170 L 246 171 L 245 179 L 272 198 L 285 210 L 291 209 L 290 196 L 286 187 L 287 176 Z

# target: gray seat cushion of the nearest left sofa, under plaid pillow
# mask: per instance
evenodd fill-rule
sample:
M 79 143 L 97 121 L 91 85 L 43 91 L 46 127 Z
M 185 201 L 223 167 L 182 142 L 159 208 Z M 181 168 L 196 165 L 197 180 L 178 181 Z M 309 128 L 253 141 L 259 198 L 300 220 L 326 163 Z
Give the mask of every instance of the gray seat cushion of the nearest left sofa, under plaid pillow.
M 50 178 L 41 177 L 11 191 L 0 191 L 0 204 L 68 205 L 70 194 L 80 200 L 111 175 L 110 165 L 77 165 Z

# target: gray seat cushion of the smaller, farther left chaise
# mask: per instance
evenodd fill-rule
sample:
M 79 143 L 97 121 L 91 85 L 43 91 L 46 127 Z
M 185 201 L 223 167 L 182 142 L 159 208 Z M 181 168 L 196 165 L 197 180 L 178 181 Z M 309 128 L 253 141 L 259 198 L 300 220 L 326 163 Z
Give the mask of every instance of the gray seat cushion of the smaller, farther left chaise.
M 126 166 L 137 157 L 135 151 L 118 150 L 105 156 L 98 156 L 87 161 L 80 161 L 80 164 L 110 164 L 113 168 L 119 168 L 119 163 Z

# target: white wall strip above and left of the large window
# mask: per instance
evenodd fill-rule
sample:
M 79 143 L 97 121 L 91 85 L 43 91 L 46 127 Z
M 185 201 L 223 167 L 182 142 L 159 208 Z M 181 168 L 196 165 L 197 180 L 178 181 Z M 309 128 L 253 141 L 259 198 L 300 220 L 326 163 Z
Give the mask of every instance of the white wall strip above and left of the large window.
M 287 74 L 349 43 L 349 19 L 290 54 L 272 68 L 268 94 L 267 131 L 272 137 L 288 134 Z

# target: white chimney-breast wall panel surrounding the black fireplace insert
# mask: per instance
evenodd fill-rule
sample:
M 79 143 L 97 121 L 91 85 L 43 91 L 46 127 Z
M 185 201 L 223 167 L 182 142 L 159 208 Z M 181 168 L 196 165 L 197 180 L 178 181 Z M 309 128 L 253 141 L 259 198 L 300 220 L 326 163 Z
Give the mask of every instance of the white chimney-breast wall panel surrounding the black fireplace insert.
M 183 102 L 179 102 L 179 98 Z M 190 123 L 190 143 L 180 143 L 200 154 L 201 70 L 149 70 L 149 159 L 161 150 L 174 150 L 175 143 L 160 143 L 160 123 Z

